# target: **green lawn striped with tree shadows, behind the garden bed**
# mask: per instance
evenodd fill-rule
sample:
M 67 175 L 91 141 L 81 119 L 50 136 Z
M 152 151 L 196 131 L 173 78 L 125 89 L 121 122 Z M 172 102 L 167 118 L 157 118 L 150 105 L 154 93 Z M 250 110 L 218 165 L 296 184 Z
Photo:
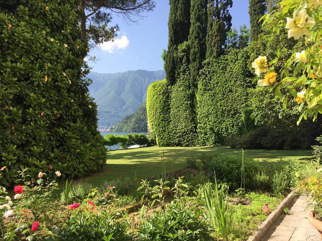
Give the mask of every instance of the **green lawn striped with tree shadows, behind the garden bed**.
M 107 165 L 100 173 L 82 178 L 78 181 L 101 185 L 104 180 L 113 181 L 119 178 L 130 177 L 145 178 L 162 173 L 161 154 L 165 152 L 166 172 L 172 170 L 171 152 L 173 152 L 173 170 L 186 167 L 186 157 L 199 154 L 241 155 L 239 149 L 226 146 L 215 147 L 143 147 L 137 149 L 110 151 Z M 269 150 L 245 150 L 247 156 L 258 159 L 292 159 L 308 160 L 312 158 L 310 150 L 296 151 L 269 151 Z M 76 180 L 75 180 L 76 181 Z

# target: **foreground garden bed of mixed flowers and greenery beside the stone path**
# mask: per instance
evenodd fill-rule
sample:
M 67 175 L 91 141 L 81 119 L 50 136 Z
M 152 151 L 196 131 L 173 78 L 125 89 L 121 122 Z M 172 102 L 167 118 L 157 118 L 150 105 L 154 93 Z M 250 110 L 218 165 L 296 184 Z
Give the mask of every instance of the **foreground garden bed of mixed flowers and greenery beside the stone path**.
M 56 182 L 24 181 L 22 196 L 12 198 L 13 214 L 0 209 L 8 216 L 0 225 L 16 240 L 247 240 L 269 216 L 264 203 L 273 212 L 299 180 L 295 172 L 305 175 L 316 165 L 238 156 L 187 162 L 188 168 L 141 181 L 66 183 L 58 202 L 51 196 Z

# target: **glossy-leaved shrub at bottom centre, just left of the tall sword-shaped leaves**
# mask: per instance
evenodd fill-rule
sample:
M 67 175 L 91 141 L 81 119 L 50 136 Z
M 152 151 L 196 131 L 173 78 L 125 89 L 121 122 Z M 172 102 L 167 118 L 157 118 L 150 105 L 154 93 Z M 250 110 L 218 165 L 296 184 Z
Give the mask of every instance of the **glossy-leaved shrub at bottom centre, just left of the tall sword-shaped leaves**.
M 154 211 L 143 219 L 137 234 L 139 241 L 199 240 L 211 241 L 213 232 L 202 217 L 202 210 L 173 201 L 165 211 Z

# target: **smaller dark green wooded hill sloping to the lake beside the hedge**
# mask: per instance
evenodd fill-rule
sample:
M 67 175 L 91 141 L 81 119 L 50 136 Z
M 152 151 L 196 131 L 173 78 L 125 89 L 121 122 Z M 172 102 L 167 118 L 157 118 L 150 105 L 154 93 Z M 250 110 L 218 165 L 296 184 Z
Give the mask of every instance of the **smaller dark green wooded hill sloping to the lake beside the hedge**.
M 126 116 L 111 132 L 147 132 L 147 103 L 141 105 L 137 112 Z

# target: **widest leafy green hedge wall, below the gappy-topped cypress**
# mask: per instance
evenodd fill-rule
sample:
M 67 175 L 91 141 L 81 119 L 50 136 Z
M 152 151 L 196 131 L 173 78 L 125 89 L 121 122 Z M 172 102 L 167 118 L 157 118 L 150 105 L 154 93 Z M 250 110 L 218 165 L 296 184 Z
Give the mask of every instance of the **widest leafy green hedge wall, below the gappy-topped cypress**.
M 223 144 L 238 133 L 242 112 L 248 106 L 251 76 L 246 49 L 234 49 L 220 58 L 210 58 L 200 71 L 197 93 L 199 145 Z

